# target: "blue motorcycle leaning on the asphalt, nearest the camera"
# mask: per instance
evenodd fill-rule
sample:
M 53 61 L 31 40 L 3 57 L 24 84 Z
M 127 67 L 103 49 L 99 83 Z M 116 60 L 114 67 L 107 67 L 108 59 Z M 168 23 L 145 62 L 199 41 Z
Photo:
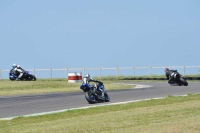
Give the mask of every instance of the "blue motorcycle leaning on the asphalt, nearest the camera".
M 109 102 L 110 97 L 105 91 L 104 84 L 95 83 L 94 85 L 82 84 L 80 89 L 85 92 L 85 99 L 90 103 Z

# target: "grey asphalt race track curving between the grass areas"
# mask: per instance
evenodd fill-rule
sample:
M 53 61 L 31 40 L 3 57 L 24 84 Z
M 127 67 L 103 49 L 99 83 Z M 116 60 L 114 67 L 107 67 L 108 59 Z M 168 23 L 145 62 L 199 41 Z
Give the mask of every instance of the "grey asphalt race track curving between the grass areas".
M 0 120 L 79 107 L 152 99 L 166 97 L 168 95 L 175 96 L 200 93 L 200 82 L 189 82 L 189 86 L 170 86 L 166 82 L 132 82 L 127 84 L 142 84 L 150 85 L 151 87 L 107 91 L 111 102 L 98 104 L 88 104 L 83 92 L 0 97 Z

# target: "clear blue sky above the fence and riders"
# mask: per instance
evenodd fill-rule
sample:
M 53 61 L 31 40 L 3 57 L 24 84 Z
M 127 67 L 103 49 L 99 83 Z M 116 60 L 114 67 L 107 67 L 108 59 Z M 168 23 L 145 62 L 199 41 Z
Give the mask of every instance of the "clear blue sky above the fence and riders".
M 199 66 L 199 0 L 0 0 L 0 70 Z

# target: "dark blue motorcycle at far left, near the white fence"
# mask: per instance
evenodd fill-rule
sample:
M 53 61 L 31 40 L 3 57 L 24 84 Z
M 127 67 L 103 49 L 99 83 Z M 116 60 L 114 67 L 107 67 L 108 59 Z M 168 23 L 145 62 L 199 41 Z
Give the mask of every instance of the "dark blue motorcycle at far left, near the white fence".
M 16 80 L 19 76 L 19 73 L 15 73 L 13 69 L 9 72 L 9 78 L 11 81 Z M 36 81 L 36 77 L 29 73 L 29 71 L 25 71 L 23 76 L 20 78 L 20 81 Z

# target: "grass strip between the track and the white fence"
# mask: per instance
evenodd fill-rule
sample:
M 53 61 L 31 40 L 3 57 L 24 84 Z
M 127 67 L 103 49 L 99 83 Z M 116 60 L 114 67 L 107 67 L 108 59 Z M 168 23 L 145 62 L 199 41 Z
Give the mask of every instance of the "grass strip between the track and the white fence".
M 68 83 L 66 79 L 37 80 L 37 81 L 0 81 L 0 96 L 42 94 L 56 92 L 81 92 L 81 83 Z M 131 89 L 134 85 L 112 84 L 104 82 L 106 90 Z

